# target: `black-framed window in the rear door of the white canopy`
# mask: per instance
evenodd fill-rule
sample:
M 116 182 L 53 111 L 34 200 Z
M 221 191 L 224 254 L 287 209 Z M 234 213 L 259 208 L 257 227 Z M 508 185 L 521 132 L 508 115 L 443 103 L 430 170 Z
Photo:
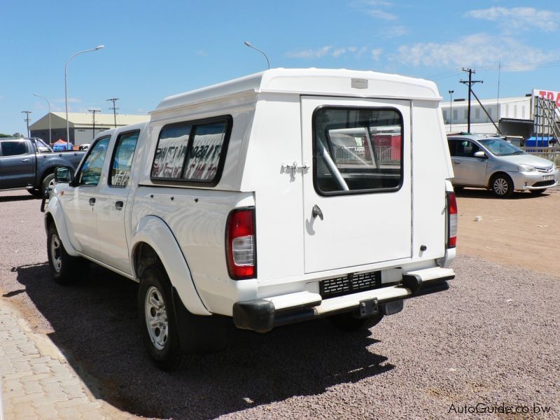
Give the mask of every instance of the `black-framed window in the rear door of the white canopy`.
M 396 109 L 319 107 L 313 116 L 319 195 L 378 193 L 402 186 L 402 116 Z

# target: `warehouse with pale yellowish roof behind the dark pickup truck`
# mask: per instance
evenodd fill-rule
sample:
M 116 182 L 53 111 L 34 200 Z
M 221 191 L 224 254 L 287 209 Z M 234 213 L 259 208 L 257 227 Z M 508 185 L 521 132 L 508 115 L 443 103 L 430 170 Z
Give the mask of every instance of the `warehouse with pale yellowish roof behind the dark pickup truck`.
M 50 136 L 49 136 L 49 116 L 50 116 Z M 92 140 L 105 130 L 116 126 L 143 123 L 148 121 L 150 116 L 138 116 L 118 114 L 116 117 L 112 113 L 96 113 L 95 120 L 92 113 L 69 112 L 69 133 L 70 142 L 75 146 L 91 143 Z M 37 120 L 29 126 L 31 137 L 40 137 L 45 141 L 55 141 L 62 139 L 66 141 L 66 113 L 51 112 L 43 118 Z

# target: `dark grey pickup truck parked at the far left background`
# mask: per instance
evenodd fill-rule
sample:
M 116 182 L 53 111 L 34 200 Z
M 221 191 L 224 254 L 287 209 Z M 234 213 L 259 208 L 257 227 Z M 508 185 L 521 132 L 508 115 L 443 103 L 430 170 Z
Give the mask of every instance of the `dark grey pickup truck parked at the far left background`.
M 27 188 L 41 197 L 54 183 L 56 167 L 76 169 L 85 152 L 58 152 L 41 139 L 0 139 L 0 190 Z

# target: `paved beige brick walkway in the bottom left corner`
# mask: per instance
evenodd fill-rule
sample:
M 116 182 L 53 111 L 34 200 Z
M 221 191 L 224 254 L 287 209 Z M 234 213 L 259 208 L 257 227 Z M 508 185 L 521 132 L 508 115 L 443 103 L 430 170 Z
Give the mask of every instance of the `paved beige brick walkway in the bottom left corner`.
M 0 382 L 0 420 L 112 417 L 48 337 L 31 332 L 1 297 Z

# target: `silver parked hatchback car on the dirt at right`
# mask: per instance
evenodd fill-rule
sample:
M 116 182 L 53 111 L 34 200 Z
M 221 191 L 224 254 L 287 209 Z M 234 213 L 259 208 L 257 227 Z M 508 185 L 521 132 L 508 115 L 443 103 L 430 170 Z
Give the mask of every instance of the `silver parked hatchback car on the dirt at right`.
M 529 155 L 499 137 L 484 134 L 450 135 L 449 151 L 456 187 L 489 188 L 498 197 L 514 190 L 542 194 L 558 184 L 553 162 Z

